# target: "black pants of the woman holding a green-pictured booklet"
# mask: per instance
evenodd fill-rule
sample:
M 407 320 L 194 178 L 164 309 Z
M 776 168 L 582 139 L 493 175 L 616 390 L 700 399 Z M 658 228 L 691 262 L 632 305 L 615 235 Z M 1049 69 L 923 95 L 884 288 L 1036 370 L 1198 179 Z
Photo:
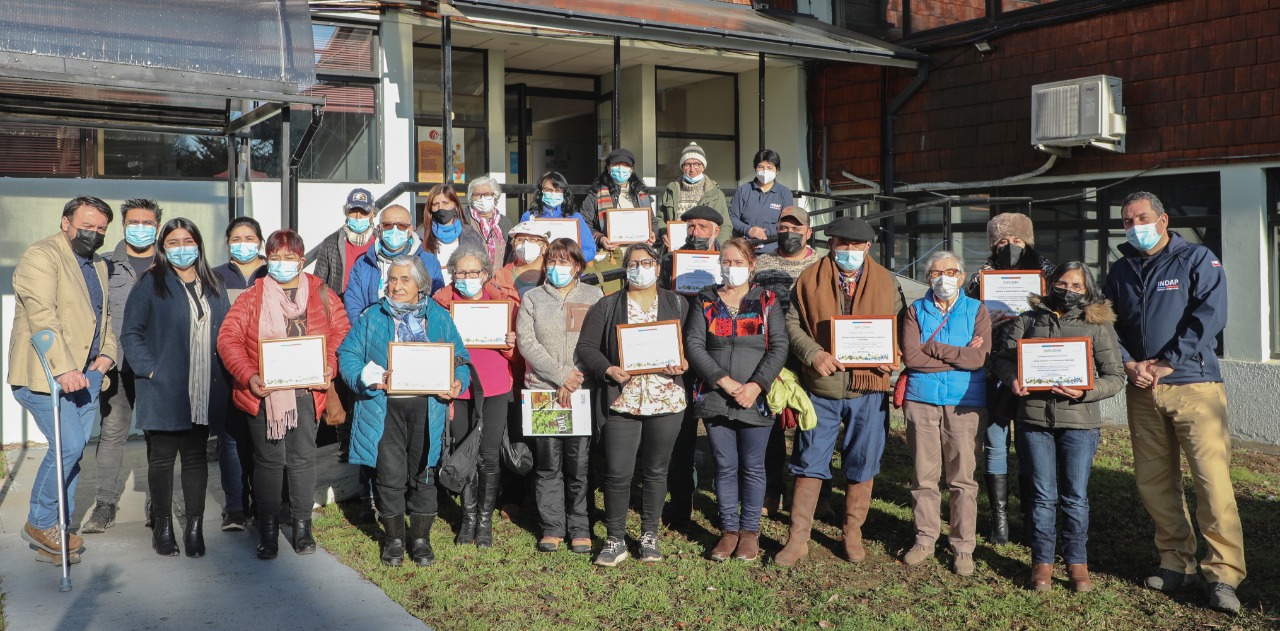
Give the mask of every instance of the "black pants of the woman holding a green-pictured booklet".
M 564 538 L 566 531 L 570 539 L 591 536 L 586 518 L 590 451 L 591 436 L 534 439 L 534 497 L 543 536 Z

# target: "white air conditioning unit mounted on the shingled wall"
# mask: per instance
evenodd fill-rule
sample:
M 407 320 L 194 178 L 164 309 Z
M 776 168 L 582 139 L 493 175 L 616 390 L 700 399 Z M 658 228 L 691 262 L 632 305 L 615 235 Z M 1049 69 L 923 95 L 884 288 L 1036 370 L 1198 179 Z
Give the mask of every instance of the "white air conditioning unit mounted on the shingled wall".
M 1032 146 L 1064 157 L 1087 146 L 1124 154 L 1121 88 L 1106 74 L 1032 86 Z

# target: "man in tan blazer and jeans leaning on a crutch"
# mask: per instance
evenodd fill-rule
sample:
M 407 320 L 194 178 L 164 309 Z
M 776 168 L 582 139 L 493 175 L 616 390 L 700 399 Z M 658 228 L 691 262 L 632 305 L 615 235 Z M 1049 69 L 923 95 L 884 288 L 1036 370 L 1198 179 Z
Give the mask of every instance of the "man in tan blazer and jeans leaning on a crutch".
M 22 529 L 37 552 L 37 561 L 59 563 L 63 553 L 60 520 L 74 512 L 76 480 L 81 454 L 97 420 L 102 375 L 115 363 L 115 335 L 106 303 L 106 262 L 96 252 L 111 223 L 111 207 L 97 197 L 77 197 L 63 207 L 58 233 L 28 247 L 13 273 L 17 298 L 9 347 L 9 385 L 14 398 L 35 417 L 49 440 L 31 489 L 31 512 Z M 32 335 L 52 331 L 54 339 L 37 353 Z M 41 355 L 44 357 L 41 357 Z M 55 449 L 54 397 L 41 358 L 47 362 L 58 390 L 61 425 L 61 472 Z M 61 490 L 59 486 L 61 483 Z M 65 513 L 59 516 L 59 495 L 65 493 Z M 70 562 L 78 562 L 83 540 L 68 534 Z M 69 589 L 69 582 L 64 581 Z

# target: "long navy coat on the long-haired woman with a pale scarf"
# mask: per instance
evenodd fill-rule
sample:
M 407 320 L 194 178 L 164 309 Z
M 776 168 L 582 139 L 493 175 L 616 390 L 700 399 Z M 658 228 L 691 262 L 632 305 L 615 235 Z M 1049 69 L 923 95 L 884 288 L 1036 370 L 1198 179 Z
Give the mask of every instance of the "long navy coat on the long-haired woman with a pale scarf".
M 155 268 L 142 273 L 124 306 L 120 346 L 129 349 L 137 399 L 136 426 L 147 431 L 189 430 L 193 416 L 188 372 L 191 362 L 191 303 L 182 279 L 165 274 L 168 296 L 156 293 Z M 227 420 L 230 383 L 218 352 L 230 308 L 227 292 L 206 292 L 209 302 L 209 427 L 220 433 Z M 257 372 L 255 370 L 255 372 Z

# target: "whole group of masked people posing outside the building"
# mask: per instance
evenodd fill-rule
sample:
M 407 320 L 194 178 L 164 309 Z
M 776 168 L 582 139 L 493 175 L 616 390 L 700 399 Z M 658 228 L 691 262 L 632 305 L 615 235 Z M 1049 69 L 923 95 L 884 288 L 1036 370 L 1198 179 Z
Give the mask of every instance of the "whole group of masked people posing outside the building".
M 696 145 L 682 152 L 682 178 L 660 196 L 636 177 L 635 156 L 617 150 L 580 206 L 562 175 L 544 175 L 536 204 L 516 225 L 498 210 L 500 186 L 489 178 L 471 180 L 465 202 L 452 186 L 434 187 L 424 225 L 402 206 L 378 211 L 371 195 L 356 189 L 343 206 L 343 225 L 319 246 L 314 274 L 305 271 L 311 261 L 297 233 L 264 238 L 248 218 L 227 229 L 230 261 L 211 268 L 200 229 L 183 218 L 161 223 L 163 211 L 150 200 L 120 207 L 124 241 L 104 259 L 96 252 L 113 211 L 101 200 L 78 197 L 65 205 L 59 233 L 31 246 L 14 274 L 9 383 L 50 435 L 55 402 L 27 340 L 54 330 L 45 358 L 61 390 L 56 404 L 68 497 L 102 401 L 97 503 L 82 531 L 114 522 L 119 454 L 132 417 L 147 439 L 148 522 L 155 550 L 164 555 L 205 554 L 211 434 L 219 436 L 227 495 L 223 529 L 243 530 L 256 517 L 257 555 L 274 558 L 287 499 L 294 552 L 314 552 L 316 430 L 321 421 L 342 425 L 349 436 L 346 454 L 362 467 L 362 485 L 375 503 L 381 561 L 389 566 L 406 555 L 417 566 L 434 562 L 439 466 L 445 458 L 456 462 L 451 449 L 472 433 L 479 433 L 479 449 L 462 475 L 456 540 L 493 545 L 495 504 L 509 486 L 500 452 L 504 439 L 520 439 L 522 388 L 553 390 L 566 407 L 585 389 L 593 404 L 591 435 L 530 438 L 539 550 L 593 552 L 588 507 L 599 488 L 607 536 L 594 562 L 627 559 L 626 517 L 639 476 L 636 553 L 640 561 L 660 561 L 659 522 L 687 520 L 692 509 L 701 422 L 716 462 L 722 531 L 708 550 L 712 559 L 760 558 L 762 515 L 781 507 L 787 471 L 795 479 L 790 532 L 773 559 L 801 562 L 838 452 L 846 483 L 844 554 L 861 562 L 863 525 L 897 385 L 914 465 L 915 541 L 902 561 L 918 566 L 936 554 L 945 474 L 952 567 L 959 575 L 974 571 L 980 456 L 991 540 L 1009 540 L 1012 442 L 1033 557 L 1029 586 L 1037 591 L 1051 586 L 1059 508 L 1070 585 L 1076 591 L 1092 586 L 1087 490 L 1100 402 L 1125 390 L 1135 476 L 1156 521 L 1161 557 L 1147 586 L 1174 591 L 1203 576 L 1213 607 L 1239 608 L 1234 587 L 1244 577 L 1243 541 L 1215 355 L 1226 285 L 1207 248 L 1169 229 L 1160 200 L 1137 193 L 1125 201 L 1128 244 L 1102 289 L 1084 264 L 1043 260 L 1029 218 L 993 218 L 984 269 L 1037 270 L 1047 287 L 1030 298 L 1029 311 L 995 319 L 977 294 L 978 274 L 969 275 L 952 252 L 928 257 L 929 289 L 910 303 L 870 255 L 876 230 L 865 221 L 831 221 L 829 251 L 819 253 L 810 243 L 809 215 L 774 179 L 778 156 L 765 150 L 755 161 L 756 178 L 726 205 L 703 175 L 707 157 Z M 653 209 L 652 238 L 611 242 L 600 218 L 617 207 Z M 580 238 L 552 239 L 540 218 L 577 219 Z M 669 243 L 663 230 L 677 219 L 689 228 L 682 244 Z M 604 294 L 582 280 L 596 250 L 622 250 L 622 291 Z M 675 293 L 666 250 L 718 252 L 718 282 L 696 294 Z M 500 348 L 467 347 L 451 316 L 462 301 L 511 305 Z M 850 315 L 895 317 L 902 366 L 837 361 L 832 320 Z M 682 325 L 685 360 L 628 374 L 618 326 L 672 320 Z M 268 388 L 260 343 L 296 337 L 325 339 L 325 383 Z M 1093 388 L 1029 392 L 1019 381 L 1019 342 L 1061 337 L 1092 340 Z M 452 346 L 449 390 L 389 392 L 389 344 L 420 342 Z M 783 427 L 792 425 L 787 457 Z M 1179 451 L 1196 472 L 1197 518 L 1208 545 L 1199 562 Z M 23 529 L 44 561 L 61 552 L 55 457 L 41 465 Z M 186 503 L 180 547 L 172 506 L 178 458 Z M 78 554 L 83 540 L 72 535 L 67 545 Z

